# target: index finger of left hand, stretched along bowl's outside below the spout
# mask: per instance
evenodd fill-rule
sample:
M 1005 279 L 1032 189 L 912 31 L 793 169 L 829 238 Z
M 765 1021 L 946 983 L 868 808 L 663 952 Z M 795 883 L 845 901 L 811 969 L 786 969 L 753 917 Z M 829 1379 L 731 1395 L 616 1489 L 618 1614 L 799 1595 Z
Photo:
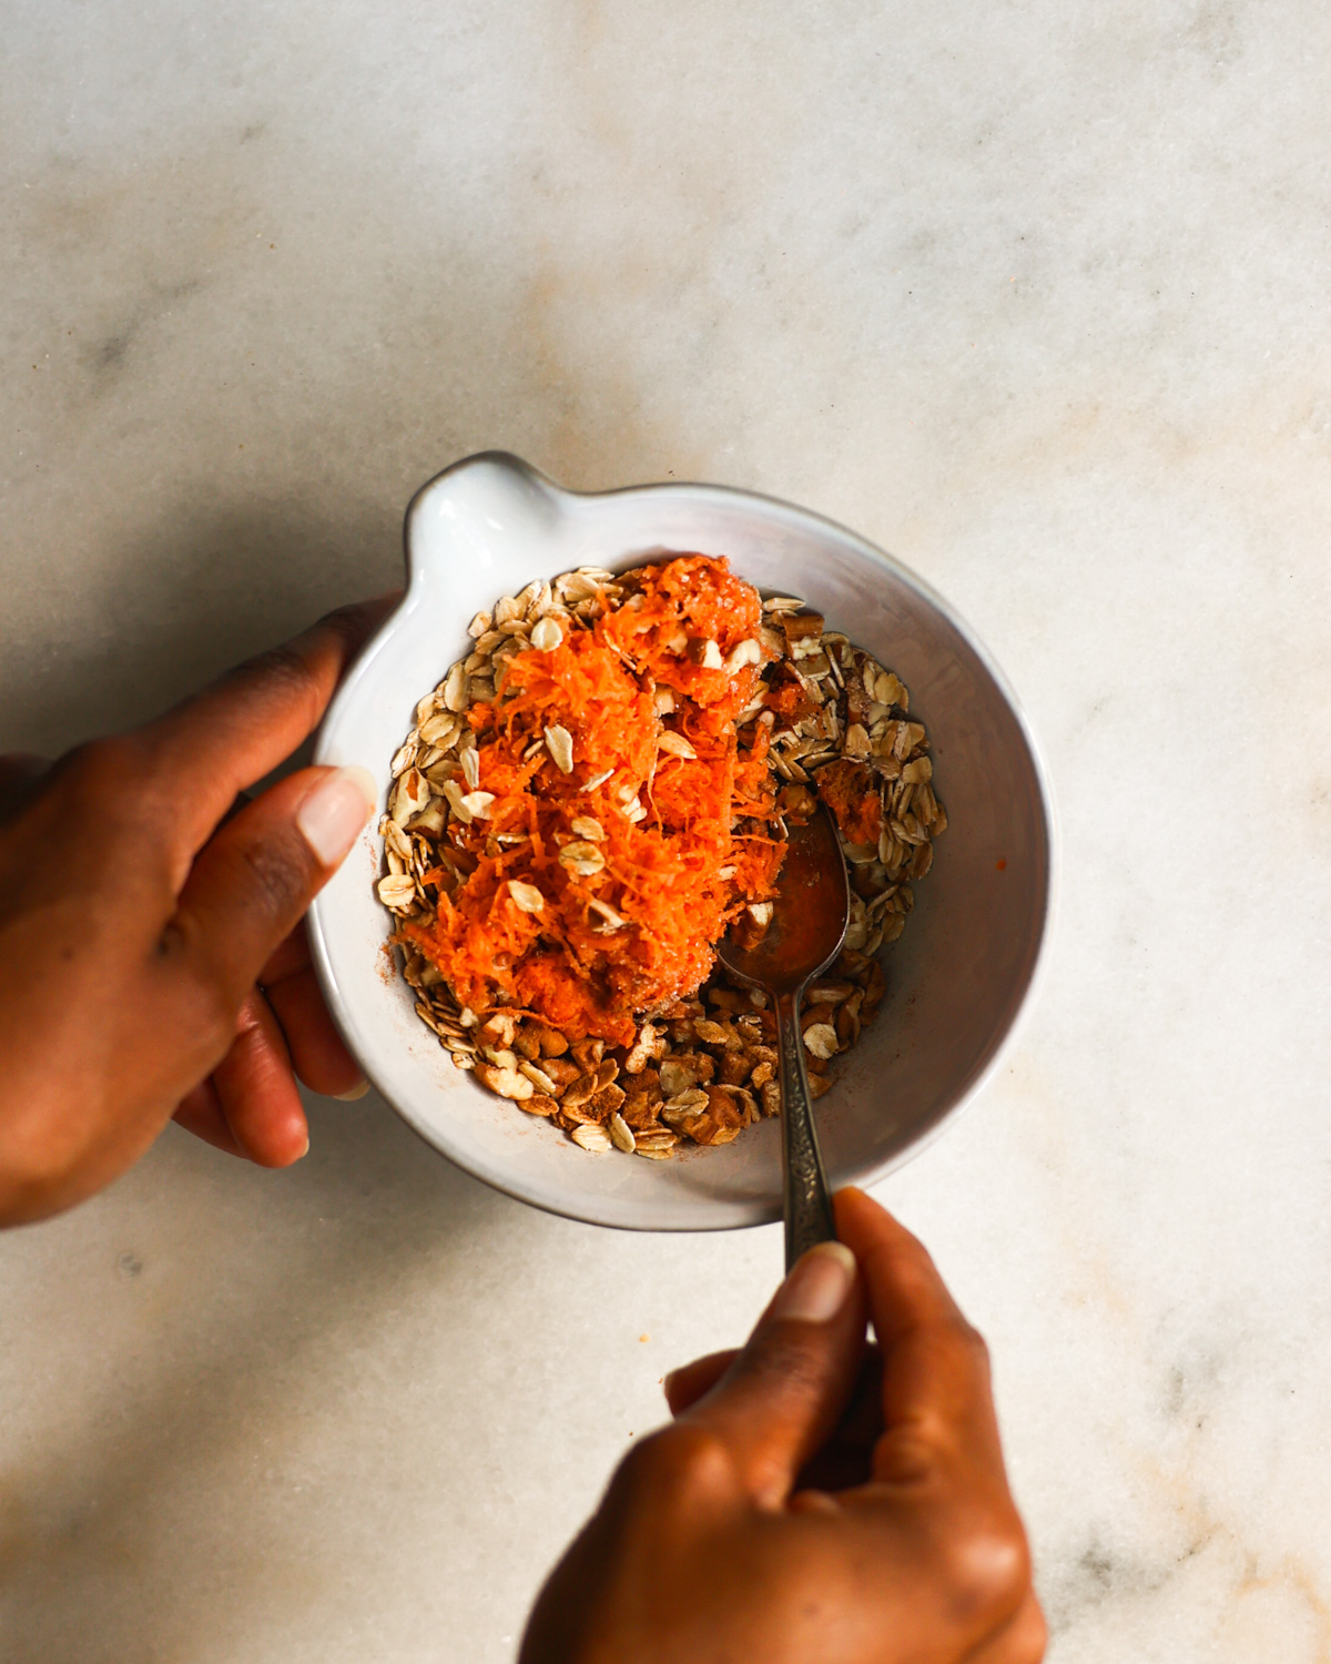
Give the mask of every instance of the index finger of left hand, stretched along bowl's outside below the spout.
M 339 607 L 140 730 L 155 785 L 171 805 L 178 859 L 193 857 L 235 795 L 313 732 L 343 672 L 396 602 L 391 594 Z

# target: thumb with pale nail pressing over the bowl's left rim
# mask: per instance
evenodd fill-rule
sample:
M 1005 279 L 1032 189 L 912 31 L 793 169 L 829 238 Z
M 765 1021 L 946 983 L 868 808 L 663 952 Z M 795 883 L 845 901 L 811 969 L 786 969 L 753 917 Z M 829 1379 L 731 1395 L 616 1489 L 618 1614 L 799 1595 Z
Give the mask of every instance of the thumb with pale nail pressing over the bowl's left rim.
M 183 998 L 210 1038 L 223 1025 L 230 1040 L 260 968 L 354 844 L 373 797 L 364 769 L 303 769 L 248 804 L 200 852 L 160 963 L 165 997 Z

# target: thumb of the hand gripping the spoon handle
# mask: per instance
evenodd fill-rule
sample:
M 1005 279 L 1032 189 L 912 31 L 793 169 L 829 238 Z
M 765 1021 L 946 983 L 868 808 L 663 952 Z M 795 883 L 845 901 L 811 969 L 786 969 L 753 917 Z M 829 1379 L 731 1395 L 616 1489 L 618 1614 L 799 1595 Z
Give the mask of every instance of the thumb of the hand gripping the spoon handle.
M 863 1345 L 855 1256 L 844 1243 L 819 1243 L 795 1263 L 720 1381 L 679 1419 L 725 1444 L 759 1506 L 782 1508 L 849 1403 Z

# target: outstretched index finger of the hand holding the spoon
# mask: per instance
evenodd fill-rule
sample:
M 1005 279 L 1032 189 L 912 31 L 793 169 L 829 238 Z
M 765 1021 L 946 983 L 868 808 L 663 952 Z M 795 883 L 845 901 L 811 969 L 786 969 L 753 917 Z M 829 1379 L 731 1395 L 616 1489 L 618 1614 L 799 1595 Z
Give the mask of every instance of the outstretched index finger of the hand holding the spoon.
M 875 1458 L 878 1478 L 893 1478 L 893 1459 L 905 1464 L 905 1476 L 922 1441 L 938 1449 L 963 1448 L 1002 1473 L 983 1341 L 923 1245 L 863 1191 L 840 1191 L 835 1208 L 837 1231 L 860 1263 L 883 1353 L 887 1431 Z

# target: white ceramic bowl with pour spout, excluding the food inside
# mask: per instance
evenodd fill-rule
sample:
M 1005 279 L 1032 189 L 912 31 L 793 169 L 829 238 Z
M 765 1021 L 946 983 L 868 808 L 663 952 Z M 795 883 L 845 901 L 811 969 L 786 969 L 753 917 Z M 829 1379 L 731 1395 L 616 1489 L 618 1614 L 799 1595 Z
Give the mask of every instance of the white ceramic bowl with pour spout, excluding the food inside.
M 948 830 L 887 950 L 887 1000 L 817 1107 L 832 1181 L 867 1183 L 915 1155 L 993 1072 L 1050 912 L 1050 799 L 1032 735 L 985 649 L 913 572 L 817 514 L 744 491 L 581 496 L 516 458 L 473 456 L 413 499 L 406 599 L 333 701 L 314 760 L 361 764 L 386 795 L 416 701 L 469 646 L 474 612 L 532 577 L 666 551 L 725 554 L 760 589 L 804 596 L 902 676 L 928 726 Z M 426 1143 L 511 1196 L 597 1225 L 720 1230 L 780 1216 L 775 1122 L 670 1161 L 589 1155 L 454 1068 L 393 968 L 378 874 L 371 825 L 314 902 L 314 960 L 348 1045 Z

